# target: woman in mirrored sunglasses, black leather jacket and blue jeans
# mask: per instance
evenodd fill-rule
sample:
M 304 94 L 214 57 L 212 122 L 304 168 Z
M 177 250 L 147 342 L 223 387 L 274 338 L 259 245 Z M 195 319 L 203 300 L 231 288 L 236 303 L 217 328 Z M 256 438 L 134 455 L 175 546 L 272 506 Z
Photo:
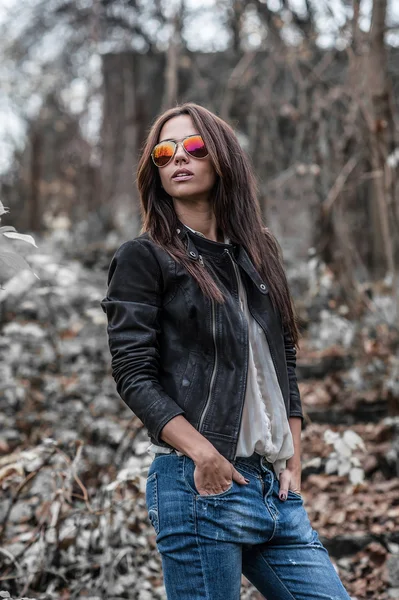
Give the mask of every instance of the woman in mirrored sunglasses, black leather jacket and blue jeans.
M 146 487 L 170 600 L 348 600 L 300 495 L 298 328 L 231 127 L 186 103 L 138 166 L 142 233 L 102 306 L 112 370 L 154 452 Z

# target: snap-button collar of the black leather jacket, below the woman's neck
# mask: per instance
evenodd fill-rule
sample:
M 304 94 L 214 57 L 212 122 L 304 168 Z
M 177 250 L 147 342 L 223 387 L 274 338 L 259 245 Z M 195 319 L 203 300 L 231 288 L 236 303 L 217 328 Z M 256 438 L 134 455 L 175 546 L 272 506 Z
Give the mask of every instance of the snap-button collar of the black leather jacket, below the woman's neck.
M 234 256 L 238 265 L 242 267 L 242 269 L 247 273 L 247 275 L 252 279 L 257 289 L 262 294 L 267 294 L 269 288 L 265 281 L 262 280 L 258 272 L 256 271 L 254 265 L 250 257 L 248 256 L 247 251 L 241 244 L 224 244 L 222 242 L 214 242 L 213 240 L 209 240 L 208 238 L 198 235 L 194 233 L 191 229 L 186 227 L 184 223 L 182 223 L 178 219 L 177 226 L 177 235 L 181 240 L 186 238 L 187 247 L 186 252 L 189 258 L 192 260 L 198 260 L 201 252 L 207 252 L 208 254 L 213 254 L 214 256 L 222 256 L 225 255 L 225 250 L 229 250 L 230 253 Z

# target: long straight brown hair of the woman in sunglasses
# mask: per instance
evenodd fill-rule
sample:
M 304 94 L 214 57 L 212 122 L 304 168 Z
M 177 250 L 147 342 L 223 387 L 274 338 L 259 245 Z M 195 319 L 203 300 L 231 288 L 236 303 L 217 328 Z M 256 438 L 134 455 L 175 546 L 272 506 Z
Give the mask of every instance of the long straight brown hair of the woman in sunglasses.
M 197 261 L 187 257 L 183 242 L 176 235 L 178 217 L 172 197 L 161 187 L 158 169 L 151 160 L 151 151 L 159 141 L 163 125 L 178 115 L 191 117 L 217 173 L 210 201 L 218 227 L 232 244 L 244 246 L 258 273 L 267 281 L 273 305 L 279 309 L 283 324 L 298 346 L 298 317 L 284 272 L 281 248 L 262 223 L 257 183 L 249 158 L 230 125 L 203 106 L 186 102 L 166 110 L 147 135 L 137 169 L 143 219 L 141 233 L 148 232 L 155 243 L 184 265 L 204 294 L 224 302 L 211 275 Z

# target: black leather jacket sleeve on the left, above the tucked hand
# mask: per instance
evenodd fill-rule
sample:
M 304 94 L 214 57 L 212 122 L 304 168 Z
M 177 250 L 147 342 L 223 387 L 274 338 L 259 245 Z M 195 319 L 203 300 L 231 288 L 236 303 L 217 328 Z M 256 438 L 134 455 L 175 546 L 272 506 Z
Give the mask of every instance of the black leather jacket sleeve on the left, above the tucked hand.
M 101 302 L 118 393 L 158 443 L 164 425 L 184 414 L 158 380 L 162 281 L 152 252 L 138 240 L 126 242 L 111 261 Z

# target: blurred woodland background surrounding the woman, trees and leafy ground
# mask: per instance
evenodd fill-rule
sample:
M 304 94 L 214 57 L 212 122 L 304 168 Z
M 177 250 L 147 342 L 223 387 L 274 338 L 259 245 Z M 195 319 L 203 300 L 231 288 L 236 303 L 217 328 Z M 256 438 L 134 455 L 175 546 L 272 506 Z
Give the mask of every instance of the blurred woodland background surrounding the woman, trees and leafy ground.
M 399 598 L 399 2 L 0 0 L 0 56 L 0 594 L 165 598 L 99 302 L 146 133 L 193 101 L 283 249 L 311 522 L 352 598 Z

